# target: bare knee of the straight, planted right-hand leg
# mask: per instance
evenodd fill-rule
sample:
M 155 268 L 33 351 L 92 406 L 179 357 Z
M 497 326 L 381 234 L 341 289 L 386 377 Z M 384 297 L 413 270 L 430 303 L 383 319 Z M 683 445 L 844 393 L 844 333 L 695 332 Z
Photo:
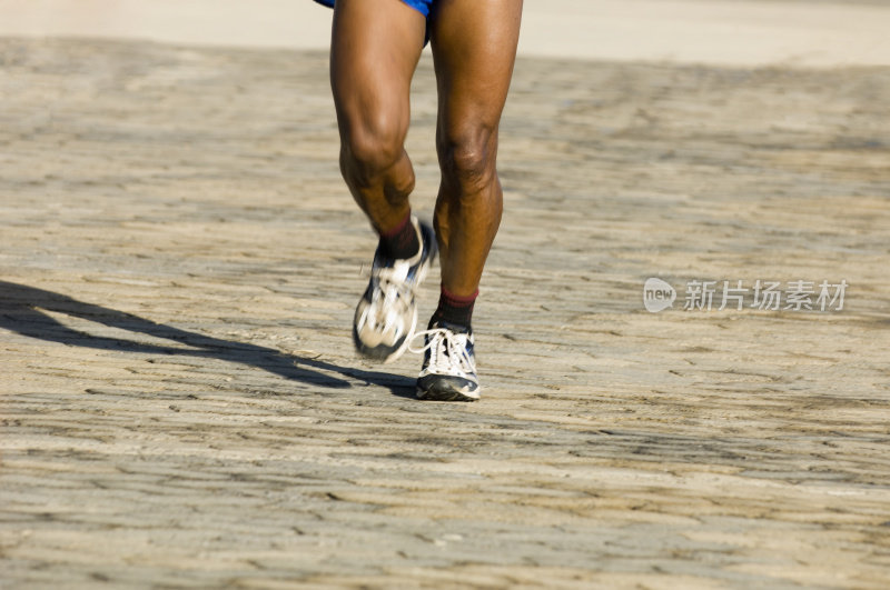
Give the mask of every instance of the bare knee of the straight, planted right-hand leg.
M 477 192 L 494 181 L 496 129 L 475 126 L 441 137 L 438 143 L 442 174 L 462 193 Z

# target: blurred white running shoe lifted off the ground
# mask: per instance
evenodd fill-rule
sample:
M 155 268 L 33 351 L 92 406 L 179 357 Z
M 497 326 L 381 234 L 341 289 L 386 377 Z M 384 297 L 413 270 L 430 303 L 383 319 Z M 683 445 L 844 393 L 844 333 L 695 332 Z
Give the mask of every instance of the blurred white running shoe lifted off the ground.
M 377 246 L 370 281 L 358 301 L 353 321 L 353 341 L 360 354 L 392 362 L 407 350 L 417 326 L 415 297 L 436 257 L 436 234 L 412 217 L 419 251 L 407 260 L 387 258 Z

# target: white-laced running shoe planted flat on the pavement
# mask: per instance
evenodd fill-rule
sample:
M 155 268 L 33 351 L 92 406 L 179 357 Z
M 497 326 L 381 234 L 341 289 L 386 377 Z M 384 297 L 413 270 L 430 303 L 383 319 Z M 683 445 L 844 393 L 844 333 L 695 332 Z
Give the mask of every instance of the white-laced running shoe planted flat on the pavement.
M 424 346 L 411 349 L 424 353 L 424 364 L 417 378 L 417 397 L 439 401 L 479 399 L 473 331 L 463 326 L 438 322 L 424 332 L 417 332 L 413 340 L 421 337 Z

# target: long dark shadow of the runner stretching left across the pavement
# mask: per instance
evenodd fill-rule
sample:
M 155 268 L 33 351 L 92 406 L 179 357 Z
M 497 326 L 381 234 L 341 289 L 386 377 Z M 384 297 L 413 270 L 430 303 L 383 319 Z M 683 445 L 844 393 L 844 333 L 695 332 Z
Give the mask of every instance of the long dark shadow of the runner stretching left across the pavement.
M 191 349 L 89 334 L 63 326 L 46 311 L 82 318 L 135 334 L 171 340 Z M 414 381 L 406 377 L 339 367 L 317 359 L 285 354 L 270 348 L 202 336 L 156 323 L 132 313 L 85 303 L 68 296 L 7 281 L 0 281 L 0 328 L 68 346 L 218 359 L 256 367 L 314 387 L 348 389 L 353 386 L 344 378 L 349 378 L 387 388 L 395 396 L 414 397 Z

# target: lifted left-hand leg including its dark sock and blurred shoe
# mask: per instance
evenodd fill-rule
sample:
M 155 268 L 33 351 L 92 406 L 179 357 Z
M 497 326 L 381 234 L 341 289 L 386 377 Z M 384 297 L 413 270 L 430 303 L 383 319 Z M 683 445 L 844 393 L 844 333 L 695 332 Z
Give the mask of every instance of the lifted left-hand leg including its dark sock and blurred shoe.
M 370 280 L 356 306 L 353 341 L 383 362 L 409 346 L 415 294 L 435 258 L 432 228 L 409 216 L 414 170 L 405 153 L 411 79 L 426 18 L 398 0 L 337 0 L 330 81 L 340 131 L 340 170 L 380 234 Z

